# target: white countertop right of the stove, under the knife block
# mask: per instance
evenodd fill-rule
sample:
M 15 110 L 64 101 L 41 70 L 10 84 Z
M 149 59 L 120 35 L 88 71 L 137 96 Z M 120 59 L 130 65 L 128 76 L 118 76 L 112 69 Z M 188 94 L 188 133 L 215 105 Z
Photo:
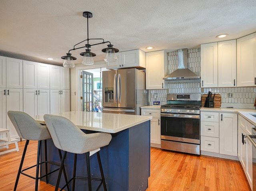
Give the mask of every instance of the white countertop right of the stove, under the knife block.
M 200 111 L 217 111 L 217 112 L 236 112 L 243 116 L 246 120 L 248 120 L 250 123 L 256 126 L 256 118 L 250 113 L 256 114 L 255 109 L 243 109 L 243 108 L 207 108 L 202 107 Z

